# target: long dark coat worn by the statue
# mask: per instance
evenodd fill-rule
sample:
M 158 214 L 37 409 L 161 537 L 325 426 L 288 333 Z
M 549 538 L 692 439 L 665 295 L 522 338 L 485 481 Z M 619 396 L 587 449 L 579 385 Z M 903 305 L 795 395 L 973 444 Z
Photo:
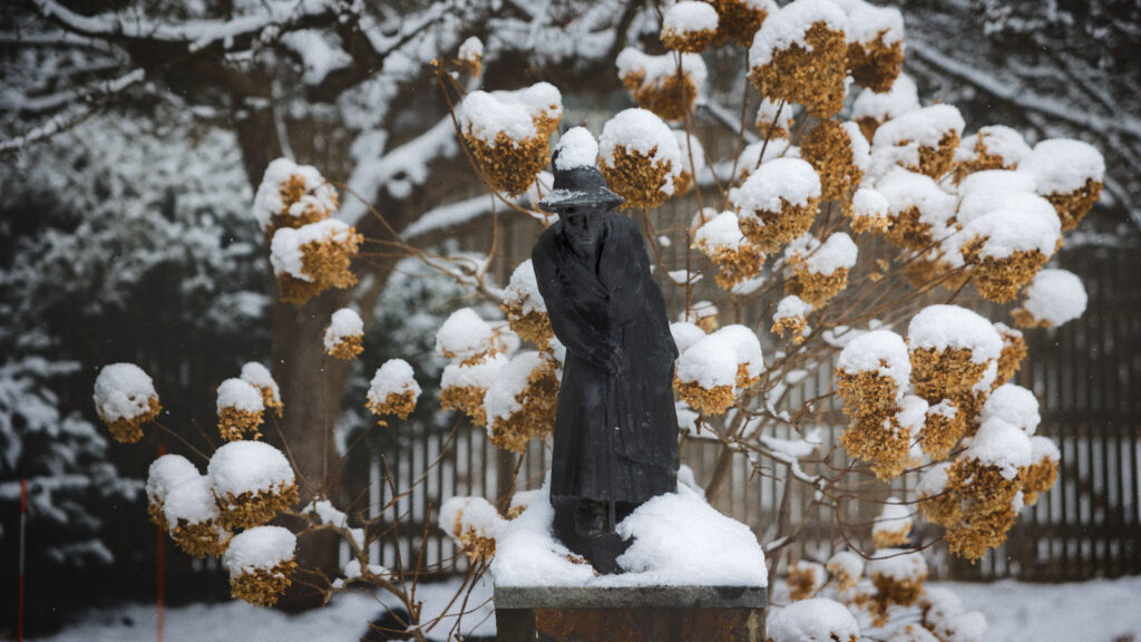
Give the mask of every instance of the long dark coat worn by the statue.
M 551 498 L 610 499 L 613 463 L 613 499 L 640 504 L 677 487 L 678 348 L 638 226 L 604 216 L 597 262 L 575 252 L 561 222 L 532 251 L 555 336 L 567 348 Z M 605 367 L 613 346 L 624 358 L 617 376 Z

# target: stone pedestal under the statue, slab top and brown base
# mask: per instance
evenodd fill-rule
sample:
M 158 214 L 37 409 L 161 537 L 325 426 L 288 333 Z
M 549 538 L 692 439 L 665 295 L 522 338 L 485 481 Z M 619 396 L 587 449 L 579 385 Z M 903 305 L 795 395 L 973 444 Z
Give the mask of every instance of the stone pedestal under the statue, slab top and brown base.
M 499 642 L 764 642 L 755 586 L 495 587 Z

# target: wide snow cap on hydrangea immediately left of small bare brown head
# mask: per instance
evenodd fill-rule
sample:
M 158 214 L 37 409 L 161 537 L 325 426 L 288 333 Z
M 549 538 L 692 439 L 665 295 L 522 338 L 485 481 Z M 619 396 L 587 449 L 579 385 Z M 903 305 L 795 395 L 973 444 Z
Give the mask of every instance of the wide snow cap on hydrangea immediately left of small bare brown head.
M 971 351 L 972 362 L 982 363 L 998 359 L 1002 337 L 977 312 L 957 305 L 929 305 L 908 323 L 907 346 L 937 351 L 965 348 Z

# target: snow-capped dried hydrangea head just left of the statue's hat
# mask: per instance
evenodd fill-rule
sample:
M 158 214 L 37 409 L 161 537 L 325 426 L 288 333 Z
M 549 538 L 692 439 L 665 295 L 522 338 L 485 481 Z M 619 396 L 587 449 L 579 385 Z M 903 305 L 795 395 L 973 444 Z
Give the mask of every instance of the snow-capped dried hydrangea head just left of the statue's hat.
M 515 91 L 472 91 L 460 104 L 460 130 L 492 188 L 517 196 L 547 164 L 563 95 L 548 82 Z

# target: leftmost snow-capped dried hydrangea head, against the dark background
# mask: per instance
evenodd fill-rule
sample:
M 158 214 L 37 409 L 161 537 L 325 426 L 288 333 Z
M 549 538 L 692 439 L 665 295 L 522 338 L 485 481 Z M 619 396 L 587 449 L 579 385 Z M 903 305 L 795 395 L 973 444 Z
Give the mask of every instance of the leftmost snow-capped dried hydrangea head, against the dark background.
M 120 443 L 143 439 L 143 424 L 159 417 L 162 406 L 154 382 L 133 363 L 111 363 L 95 378 L 95 409 Z

